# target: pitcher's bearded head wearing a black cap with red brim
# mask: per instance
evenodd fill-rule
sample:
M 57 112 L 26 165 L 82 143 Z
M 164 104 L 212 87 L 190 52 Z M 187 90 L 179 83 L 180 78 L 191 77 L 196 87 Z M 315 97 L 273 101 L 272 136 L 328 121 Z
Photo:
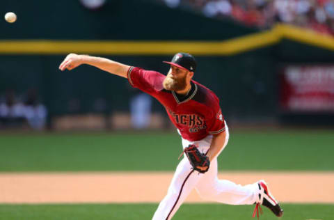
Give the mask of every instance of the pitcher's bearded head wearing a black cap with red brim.
M 193 78 L 193 72 L 196 70 L 196 61 L 193 56 L 186 53 L 177 53 L 171 62 L 164 61 L 170 64 L 170 69 L 163 85 L 169 91 L 182 91 L 190 84 Z

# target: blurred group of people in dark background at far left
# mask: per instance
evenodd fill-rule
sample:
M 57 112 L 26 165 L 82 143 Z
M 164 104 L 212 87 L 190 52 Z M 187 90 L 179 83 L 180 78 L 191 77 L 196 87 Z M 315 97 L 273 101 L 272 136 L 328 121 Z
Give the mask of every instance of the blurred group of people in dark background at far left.
M 23 97 L 17 96 L 12 90 L 0 95 L 0 129 L 43 129 L 46 118 L 47 109 L 38 101 L 38 94 L 34 89 L 29 90 Z

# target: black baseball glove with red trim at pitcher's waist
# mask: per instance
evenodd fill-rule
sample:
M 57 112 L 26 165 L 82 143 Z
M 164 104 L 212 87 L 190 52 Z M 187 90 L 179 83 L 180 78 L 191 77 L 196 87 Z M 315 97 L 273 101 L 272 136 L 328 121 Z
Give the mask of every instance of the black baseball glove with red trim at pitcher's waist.
M 195 145 L 190 144 L 188 147 L 184 148 L 184 153 L 195 171 L 205 173 L 209 170 L 209 157 L 201 153 Z

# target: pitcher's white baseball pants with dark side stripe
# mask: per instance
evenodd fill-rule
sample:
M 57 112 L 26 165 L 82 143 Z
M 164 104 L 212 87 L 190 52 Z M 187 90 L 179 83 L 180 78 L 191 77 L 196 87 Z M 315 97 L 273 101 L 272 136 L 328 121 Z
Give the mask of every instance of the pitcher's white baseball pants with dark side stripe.
M 225 125 L 225 127 L 226 140 L 223 148 L 228 144 L 229 139 L 228 126 Z M 182 139 L 182 146 L 186 148 L 189 144 L 196 144 L 200 152 L 207 152 L 211 141 L 211 135 L 201 141 Z M 180 164 L 177 165 L 167 195 L 159 204 L 152 220 L 172 219 L 192 189 L 196 189 L 205 201 L 216 201 L 230 205 L 250 205 L 257 201 L 259 193 L 257 183 L 241 186 L 229 180 L 218 180 L 216 158 L 210 163 L 207 173 L 198 173 L 191 168 L 188 158 L 184 155 Z

